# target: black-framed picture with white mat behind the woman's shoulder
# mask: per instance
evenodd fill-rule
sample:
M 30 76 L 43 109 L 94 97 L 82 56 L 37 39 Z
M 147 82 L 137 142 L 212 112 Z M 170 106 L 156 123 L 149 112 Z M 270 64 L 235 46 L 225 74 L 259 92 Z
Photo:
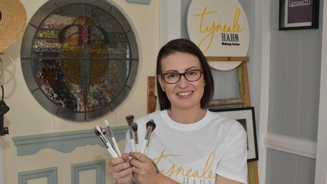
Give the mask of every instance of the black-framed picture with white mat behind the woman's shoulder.
M 235 109 L 210 109 L 221 116 L 238 121 L 248 134 L 248 162 L 258 160 L 258 145 L 255 121 L 255 109 L 235 108 Z

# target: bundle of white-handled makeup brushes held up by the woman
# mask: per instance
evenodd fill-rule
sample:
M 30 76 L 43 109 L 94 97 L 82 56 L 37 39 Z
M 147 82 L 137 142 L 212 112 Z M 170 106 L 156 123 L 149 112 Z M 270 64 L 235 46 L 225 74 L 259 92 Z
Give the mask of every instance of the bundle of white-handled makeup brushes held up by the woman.
M 128 130 L 128 134 L 129 134 L 129 138 L 130 138 L 130 144 L 132 147 L 132 151 L 133 152 L 140 152 L 143 154 L 146 154 L 146 150 L 149 146 L 149 141 L 150 141 L 150 137 L 151 137 L 151 133 L 154 131 L 155 129 L 155 123 L 154 121 L 151 119 L 150 121 L 148 121 L 146 123 L 146 133 L 145 133 L 145 137 L 144 137 L 144 142 L 143 145 L 140 149 L 139 146 L 139 139 L 138 139 L 138 133 L 137 133 L 137 123 L 133 122 L 134 121 L 134 116 L 133 115 L 127 115 L 126 116 L 126 121 L 127 124 L 129 126 L 129 130 Z M 115 157 L 119 157 L 121 156 L 121 152 L 118 148 L 116 139 L 114 137 L 114 134 L 112 133 L 112 130 L 109 126 L 109 123 L 107 120 L 105 120 L 105 123 L 107 125 L 111 140 L 109 140 L 106 130 L 102 130 L 100 126 L 96 126 L 93 128 L 94 133 L 99 136 L 100 140 L 103 142 L 103 144 L 106 146 L 108 152 L 110 153 L 110 155 L 115 158 Z

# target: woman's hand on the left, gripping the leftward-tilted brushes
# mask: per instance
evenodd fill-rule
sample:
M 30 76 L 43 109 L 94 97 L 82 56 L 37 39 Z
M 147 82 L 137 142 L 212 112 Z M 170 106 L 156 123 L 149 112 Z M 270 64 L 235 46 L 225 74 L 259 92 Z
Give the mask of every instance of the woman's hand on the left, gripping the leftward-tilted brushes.
M 109 161 L 109 174 L 116 180 L 116 184 L 133 183 L 133 169 L 129 163 L 128 153 Z

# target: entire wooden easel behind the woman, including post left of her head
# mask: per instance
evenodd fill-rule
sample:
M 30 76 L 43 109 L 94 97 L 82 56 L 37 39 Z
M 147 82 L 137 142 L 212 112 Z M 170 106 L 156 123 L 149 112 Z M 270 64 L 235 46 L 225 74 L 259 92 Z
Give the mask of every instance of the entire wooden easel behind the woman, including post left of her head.
M 250 86 L 248 76 L 247 61 L 249 57 L 206 57 L 207 61 L 242 61 L 237 66 L 238 73 L 238 86 L 239 86 L 239 99 L 224 99 L 211 101 L 209 106 L 217 105 L 241 105 L 241 107 L 251 107 Z M 156 96 L 155 93 L 155 77 L 147 77 L 147 113 L 155 111 Z M 259 184 L 258 176 L 258 161 L 248 162 L 249 184 Z

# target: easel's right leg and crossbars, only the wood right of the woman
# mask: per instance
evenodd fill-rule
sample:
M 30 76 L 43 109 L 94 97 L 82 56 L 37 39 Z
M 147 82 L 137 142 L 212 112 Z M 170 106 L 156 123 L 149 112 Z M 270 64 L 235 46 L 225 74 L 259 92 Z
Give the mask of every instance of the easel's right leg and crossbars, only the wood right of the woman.
M 239 99 L 212 101 L 209 105 L 236 105 L 251 107 L 248 64 L 250 57 L 206 57 L 207 61 L 242 61 L 237 66 Z M 258 161 L 248 162 L 249 184 L 259 184 Z

